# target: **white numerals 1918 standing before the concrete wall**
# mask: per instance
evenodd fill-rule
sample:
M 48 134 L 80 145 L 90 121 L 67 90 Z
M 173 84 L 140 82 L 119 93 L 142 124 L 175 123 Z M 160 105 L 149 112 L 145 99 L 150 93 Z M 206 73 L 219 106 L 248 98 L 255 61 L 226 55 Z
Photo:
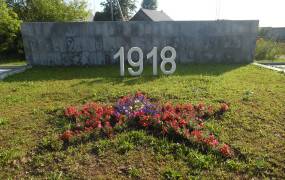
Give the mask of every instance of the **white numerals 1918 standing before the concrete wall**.
M 166 52 L 170 51 L 171 56 L 166 57 Z M 138 53 L 138 61 L 134 62 L 132 59 L 132 54 L 133 53 Z M 162 63 L 160 65 L 161 71 L 166 74 L 170 75 L 173 74 L 176 70 L 176 51 L 173 47 L 166 46 L 162 49 L 160 53 Z M 124 53 L 124 47 L 121 47 L 119 51 L 114 55 L 114 59 L 120 58 L 120 75 L 124 76 L 125 75 L 125 53 Z M 147 54 L 147 59 L 153 59 L 153 75 L 158 75 L 157 72 L 157 47 L 154 47 L 150 53 Z M 137 71 L 134 71 L 133 68 L 128 68 L 129 74 L 131 76 L 140 76 L 143 73 L 143 51 L 139 47 L 132 47 L 128 51 L 128 63 L 130 64 L 131 67 L 133 68 L 139 68 Z M 171 69 L 166 70 L 166 64 L 170 63 L 171 64 Z

